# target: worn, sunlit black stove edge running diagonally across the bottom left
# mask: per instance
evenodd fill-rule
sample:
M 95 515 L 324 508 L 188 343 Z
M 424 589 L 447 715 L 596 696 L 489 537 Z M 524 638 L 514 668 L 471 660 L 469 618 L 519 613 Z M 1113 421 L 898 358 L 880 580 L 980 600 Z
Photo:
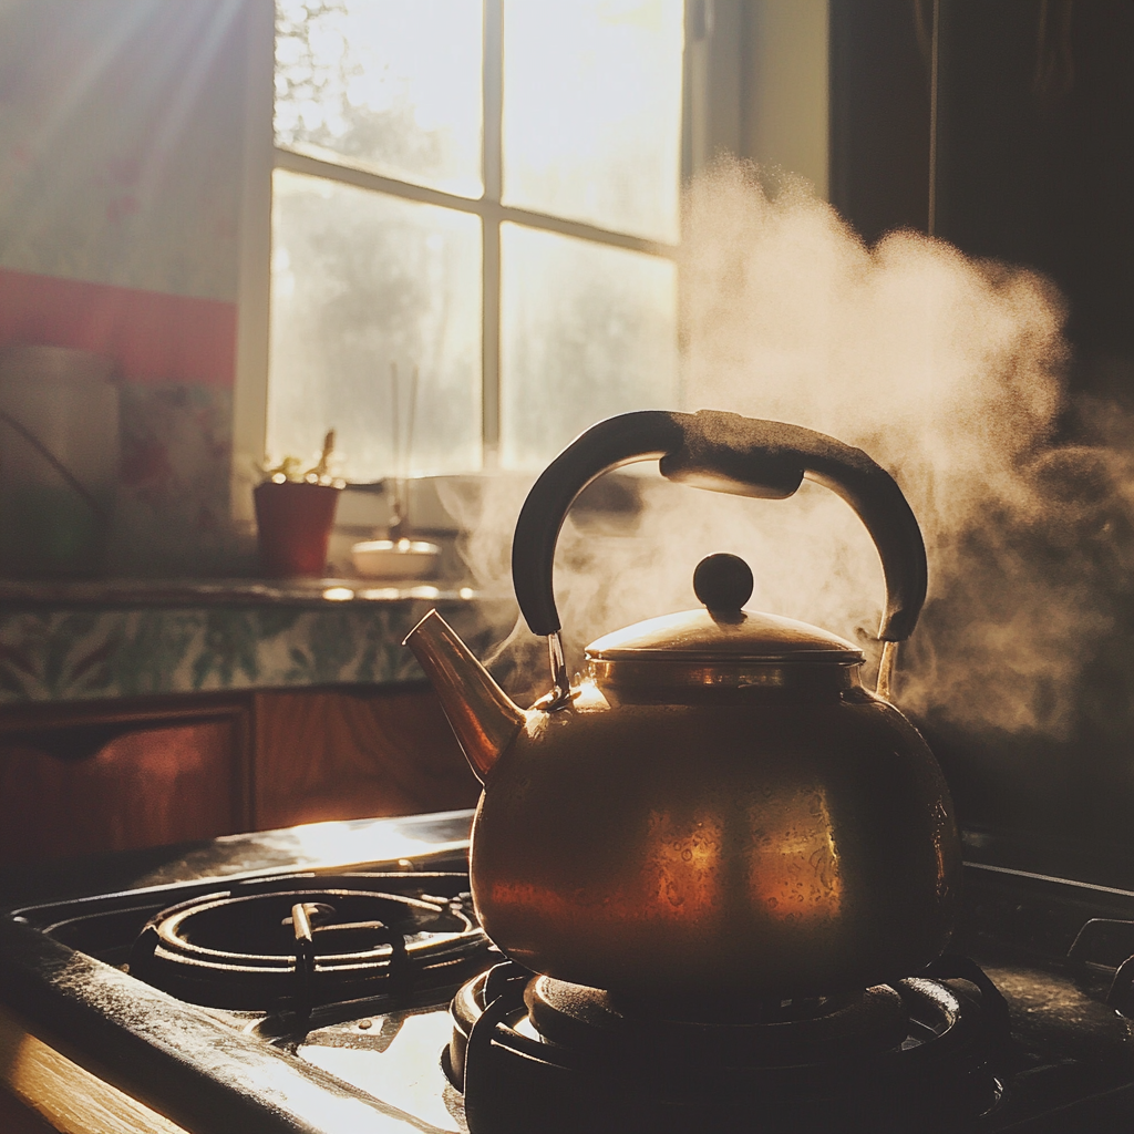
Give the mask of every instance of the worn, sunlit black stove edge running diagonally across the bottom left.
M 0 999 L 65 1056 L 191 1132 L 431 1129 L 333 1076 L 42 933 L 0 920 Z

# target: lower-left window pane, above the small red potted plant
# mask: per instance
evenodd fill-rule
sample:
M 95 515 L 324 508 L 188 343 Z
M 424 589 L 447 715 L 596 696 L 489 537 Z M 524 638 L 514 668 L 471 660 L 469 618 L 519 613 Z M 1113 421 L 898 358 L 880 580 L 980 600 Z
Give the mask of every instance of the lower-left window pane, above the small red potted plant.
M 276 170 L 268 447 L 306 457 L 338 431 L 352 480 L 391 475 L 418 369 L 409 472 L 481 464 L 480 220 Z

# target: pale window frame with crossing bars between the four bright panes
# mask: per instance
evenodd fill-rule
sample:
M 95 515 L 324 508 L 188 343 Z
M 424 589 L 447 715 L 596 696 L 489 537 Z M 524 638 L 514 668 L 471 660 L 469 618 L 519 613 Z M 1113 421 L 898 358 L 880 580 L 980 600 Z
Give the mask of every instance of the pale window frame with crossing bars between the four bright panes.
M 758 93 L 761 99 L 767 100 L 768 91 L 759 87 L 759 84 L 754 85 L 747 77 L 750 71 L 759 75 L 763 61 L 775 59 L 785 46 L 793 45 L 782 32 L 768 24 L 764 9 L 772 12 L 776 2 L 777 0 L 686 0 L 680 151 L 683 184 L 704 168 L 720 150 L 729 150 L 742 158 L 762 156 L 773 163 L 778 158 L 776 152 L 752 152 L 756 149 L 768 149 L 762 143 L 762 133 L 767 132 L 761 127 L 760 107 L 753 102 Z M 824 9 L 821 68 L 826 69 L 826 0 L 809 0 L 809 2 Z M 263 459 L 266 440 L 272 172 L 277 168 L 330 178 L 403 200 L 451 208 L 481 218 L 482 469 L 492 471 L 497 465 L 500 438 L 500 226 L 510 221 L 536 230 L 670 260 L 677 257 L 679 245 L 644 239 L 501 203 L 502 0 L 484 0 L 482 91 L 484 192 L 475 200 L 382 177 L 349 166 L 322 161 L 290 150 L 277 149 L 273 127 L 274 0 L 244 0 L 244 3 L 246 93 L 244 185 L 238 249 L 236 384 L 232 397 L 234 519 L 253 522 L 251 489 L 257 480 L 256 466 Z M 812 44 L 807 50 L 815 54 L 819 46 Z M 794 58 L 798 60 L 798 52 Z M 776 113 L 780 115 L 785 107 L 790 111 L 793 102 L 802 105 L 809 99 L 807 104 L 813 109 L 814 91 L 811 87 L 814 87 L 814 75 L 810 77 L 803 75 L 801 79 L 781 82 L 777 87 L 779 98 Z M 813 158 L 816 168 L 814 171 L 810 169 L 804 171 L 811 174 L 820 193 L 826 195 L 826 119 L 821 124 L 821 133 L 820 153 Z M 772 150 L 775 149 L 773 144 Z M 794 161 L 790 163 L 796 164 Z

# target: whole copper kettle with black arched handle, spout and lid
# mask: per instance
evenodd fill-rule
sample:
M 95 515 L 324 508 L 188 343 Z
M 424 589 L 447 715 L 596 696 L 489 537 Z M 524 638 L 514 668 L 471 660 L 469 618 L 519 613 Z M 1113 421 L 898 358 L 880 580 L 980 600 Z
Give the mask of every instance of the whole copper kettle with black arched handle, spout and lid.
M 716 491 L 782 499 L 806 476 L 843 497 L 882 560 L 891 655 L 924 601 L 917 523 L 860 449 L 713 411 L 583 433 L 533 485 L 513 544 L 551 692 L 521 709 L 437 611 L 406 638 L 484 784 L 471 872 L 485 932 L 535 972 L 640 997 L 777 999 L 916 973 L 953 929 L 953 804 L 917 731 L 863 687 L 849 642 L 743 610 L 751 572 L 713 556 L 694 577 L 704 609 L 599 638 L 569 685 L 559 528 L 594 477 L 654 458 Z

